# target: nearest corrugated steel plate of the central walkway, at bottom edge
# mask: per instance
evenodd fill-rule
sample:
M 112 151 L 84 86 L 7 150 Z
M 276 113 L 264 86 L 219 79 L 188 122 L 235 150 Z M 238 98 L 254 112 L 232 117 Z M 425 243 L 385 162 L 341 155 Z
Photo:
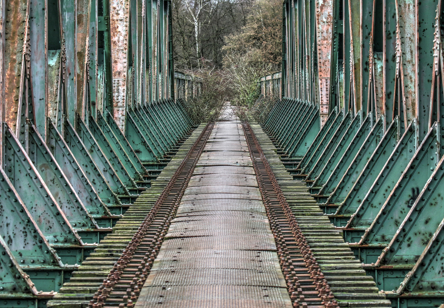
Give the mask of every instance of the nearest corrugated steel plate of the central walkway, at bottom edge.
M 136 308 L 291 308 L 286 293 L 286 288 L 233 285 L 144 287 Z

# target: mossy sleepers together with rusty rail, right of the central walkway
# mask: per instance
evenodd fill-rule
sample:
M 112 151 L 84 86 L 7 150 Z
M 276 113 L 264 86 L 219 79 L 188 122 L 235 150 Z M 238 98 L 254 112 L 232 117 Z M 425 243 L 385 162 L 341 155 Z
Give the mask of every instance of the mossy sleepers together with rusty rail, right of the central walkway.
M 390 307 L 260 125 L 243 128 L 293 307 Z

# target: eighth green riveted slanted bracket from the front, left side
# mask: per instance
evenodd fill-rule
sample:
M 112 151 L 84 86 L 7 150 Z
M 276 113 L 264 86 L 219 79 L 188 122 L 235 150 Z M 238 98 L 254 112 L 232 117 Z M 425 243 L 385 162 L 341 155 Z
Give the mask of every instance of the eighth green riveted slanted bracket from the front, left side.
M 99 144 L 99 147 L 102 149 L 103 154 L 107 157 L 114 170 L 119 170 L 122 173 L 123 184 L 127 185 L 127 187 L 137 188 L 135 180 L 142 180 L 142 176 L 140 176 L 139 172 L 135 170 L 128 156 L 122 150 L 122 147 L 119 146 L 117 152 L 114 150 L 111 142 L 115 141 L 115 138 L 110 142 L 110 140 L 108 140 L 105 133 L 100 129 L 99 125 L 91 115 L 89 116 L 87 125 L 89 131 L 94 136 L 95 141 L 97 142 L 97 144 Z

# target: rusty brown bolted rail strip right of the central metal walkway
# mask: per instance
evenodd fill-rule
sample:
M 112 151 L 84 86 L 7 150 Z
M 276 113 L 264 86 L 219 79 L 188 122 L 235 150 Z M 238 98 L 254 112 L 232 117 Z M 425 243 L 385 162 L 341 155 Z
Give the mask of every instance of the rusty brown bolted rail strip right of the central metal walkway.
M 250 124 L 242 127 L 293 307 L 338 307 Z

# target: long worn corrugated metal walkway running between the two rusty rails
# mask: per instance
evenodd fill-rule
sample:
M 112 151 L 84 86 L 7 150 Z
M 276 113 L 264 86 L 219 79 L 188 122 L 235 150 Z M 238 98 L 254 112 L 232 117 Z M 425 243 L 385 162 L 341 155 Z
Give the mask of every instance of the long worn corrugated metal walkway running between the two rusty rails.
M 231 154 L 251 165 L 234 116 L 214 125 L 197 164 L 212 167 L 195 168 L 136 308 L 292 307 L 254 170 Z

